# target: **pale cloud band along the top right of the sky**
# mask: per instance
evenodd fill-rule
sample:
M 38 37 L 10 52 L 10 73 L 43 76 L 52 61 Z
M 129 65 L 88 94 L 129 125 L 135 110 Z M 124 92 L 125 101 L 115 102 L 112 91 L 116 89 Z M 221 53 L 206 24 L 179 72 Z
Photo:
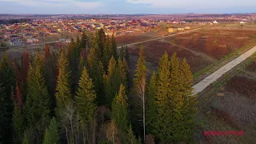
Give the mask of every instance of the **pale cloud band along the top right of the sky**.
M 133 4 L 147 4 L 151 8 L 225 8 L 256 6 L 255 0 L 126 0 Z

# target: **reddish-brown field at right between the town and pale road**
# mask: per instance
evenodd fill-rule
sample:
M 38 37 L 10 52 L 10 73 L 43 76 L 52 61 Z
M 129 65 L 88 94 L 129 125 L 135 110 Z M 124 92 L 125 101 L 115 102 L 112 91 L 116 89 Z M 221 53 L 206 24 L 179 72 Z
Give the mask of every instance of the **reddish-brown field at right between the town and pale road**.
M 256 35 L 256 29 L 220 30 L 212 28 L 177 35 L 173 38 L 166 38 L 166 40 L 191 50 L 201 51 L 212 58 L 221 59 L 244 46 L 246 42 L 250 42 L 253 35 Z

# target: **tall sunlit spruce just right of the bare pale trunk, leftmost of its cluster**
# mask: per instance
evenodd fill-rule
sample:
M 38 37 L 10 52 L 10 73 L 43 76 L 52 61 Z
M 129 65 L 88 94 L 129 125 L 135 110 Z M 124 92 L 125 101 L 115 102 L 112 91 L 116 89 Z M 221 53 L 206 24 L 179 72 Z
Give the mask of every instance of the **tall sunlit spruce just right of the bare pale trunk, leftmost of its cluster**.
M 165 52 L 158 64 L 158 82 L 155 98 L 157 121 L 154 122 L 154 135 L 162 142 L 171 142 L 173 135 L 173 106 L 170 98 L 170 61 Z

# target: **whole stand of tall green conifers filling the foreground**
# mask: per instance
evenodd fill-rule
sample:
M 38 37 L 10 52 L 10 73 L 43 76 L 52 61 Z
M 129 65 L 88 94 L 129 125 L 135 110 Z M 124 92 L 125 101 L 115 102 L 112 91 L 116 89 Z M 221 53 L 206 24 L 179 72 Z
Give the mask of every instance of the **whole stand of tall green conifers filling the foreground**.
M 130 75 L 127 47 L 98 30 L 67 50 L 0 62 L 0 143 L 191 143 L 197 101 L 186 59 L 162 55 L 148 73 L 141 48 Z

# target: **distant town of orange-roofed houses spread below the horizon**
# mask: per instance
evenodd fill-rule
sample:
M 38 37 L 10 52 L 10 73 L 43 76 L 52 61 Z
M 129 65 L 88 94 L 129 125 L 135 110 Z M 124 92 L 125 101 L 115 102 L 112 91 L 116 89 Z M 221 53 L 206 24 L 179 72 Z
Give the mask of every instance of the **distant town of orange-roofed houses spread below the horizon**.
M 14 15 L 0 14 L 0 46 L 28 46 L 43 42 L 70 42 L 83 31 L 103 29 L 106 35 L 125 35 L 136 31 L 158 30 L 166 25 L 216 25 L 254 22 L 256 14 L 161 14 L 161 15 Z M 166 32 L 190 29 L 170 26 Z M 70 36 L 71 35 L 71 36 Z

